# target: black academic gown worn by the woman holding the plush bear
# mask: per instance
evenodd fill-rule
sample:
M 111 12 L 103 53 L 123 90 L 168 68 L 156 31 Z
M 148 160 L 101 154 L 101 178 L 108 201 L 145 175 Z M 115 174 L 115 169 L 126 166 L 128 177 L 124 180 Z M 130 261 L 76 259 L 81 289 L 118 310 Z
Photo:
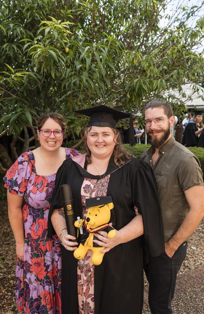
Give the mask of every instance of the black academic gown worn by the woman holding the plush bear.
M 136 205 L 142 214 L 144 236 L 115 246 L 105 253 L 102 263 L 95 266 L 95 314 L 141 314 L 143 249 L 150 256 L 164 252 L 156 181 L 149 165 L 136 158 L 120 169 L 111 158 L 106 174 L 110 174 L 107 196 L 111 196 L 114 203 L 115 229 L 121 229 L 135 217 Z M 48 217 L 48 236 L 54 233 L 51 213 L 54 208 L 62 208 L 60 185 L 71 184 L 75 214 L 82 217 L 81 186 L 84 178 L 101 179 L 89 174 L 72 159 L 65 160 L 57 171 Z M 73 252 L 62 246 L 62 314 L 78 314 L 77 265 Z

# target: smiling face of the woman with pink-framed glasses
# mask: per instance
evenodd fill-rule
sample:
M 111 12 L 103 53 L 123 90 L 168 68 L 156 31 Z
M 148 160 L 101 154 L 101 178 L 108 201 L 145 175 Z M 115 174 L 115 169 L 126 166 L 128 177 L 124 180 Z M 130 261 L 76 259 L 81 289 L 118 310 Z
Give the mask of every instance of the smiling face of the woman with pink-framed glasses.
M 62 130 L 62 127 L 54 119 L 48 118 L 41 129 L 50 129 L 51 131 L 54 131 Z M 37 133 L 40 138 L 40 146 L 45 150 L 54 151 L 59 149 L 62 145 L 63 136 L 57 138 L 52 132 L 49 137 L 45 137 L 43 136 L 42 131 L 37 131 Z

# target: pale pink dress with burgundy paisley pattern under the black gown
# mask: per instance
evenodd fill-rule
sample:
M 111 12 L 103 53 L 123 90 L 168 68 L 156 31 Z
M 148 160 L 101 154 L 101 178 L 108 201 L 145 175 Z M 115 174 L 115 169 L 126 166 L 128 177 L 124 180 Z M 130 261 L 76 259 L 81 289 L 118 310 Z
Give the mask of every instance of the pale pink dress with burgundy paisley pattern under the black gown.
M 91 197 L 106 196 L 110 175 L 101 182 L 85 178 L 81 188 L 83 219 L 87 214 L 85 200 Z M 92 251 L 88 251 L 84 258 L 78 261 L 78 302 L 79 314 L 92 314 L 94 312 L 94 265 L 91 262 Z

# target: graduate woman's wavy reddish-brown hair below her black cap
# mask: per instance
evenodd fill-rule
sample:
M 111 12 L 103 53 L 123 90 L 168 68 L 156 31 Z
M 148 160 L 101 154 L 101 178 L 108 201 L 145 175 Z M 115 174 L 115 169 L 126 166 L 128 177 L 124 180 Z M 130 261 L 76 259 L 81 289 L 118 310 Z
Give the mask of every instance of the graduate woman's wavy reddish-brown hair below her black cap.
M 87 134 L 91 131 L 91 126 L 87 127 L 84 130 L 84 150 L 86 155 L 86 161 L 87 164 L 91 164 L 91 151 L 87 145 Z M 124 165 L 125 159 L 132 159 L 134 157 L 133 154 L 131 154 L 128 150 L 126 150 L 122 144 L 122 139 L 121 139 L 121 133 L 118 130 L 115 130 L 114 128 L 111 127 L 113 130 L 115 136 L 114 136 L 114 143 L 116 144 L 114 149 L 113 149 L 113 161 L 115 164 L 119 167 Z

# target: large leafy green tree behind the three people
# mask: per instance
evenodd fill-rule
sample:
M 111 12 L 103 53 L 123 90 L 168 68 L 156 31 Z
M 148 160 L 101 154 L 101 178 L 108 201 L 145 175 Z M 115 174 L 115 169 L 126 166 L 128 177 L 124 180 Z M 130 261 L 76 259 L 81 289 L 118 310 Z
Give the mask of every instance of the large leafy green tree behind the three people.
M 3 0 L 0 136 L 13 137 L 13 159 L 19 141 L 22 151 L 37 144 L 35 119 L 45 111 L 62 113 L 67 135 L 79 135 L 86 123 L 74 113 L 79 108 L 104 104 L 137 115 L 162 97 L 174 113 L 185 110 L 173 92 L 203 82 L 204 18 L 196 16 L 204 1 L 179 3 L 174 14 L 171 3 Z M 2 144 L 0 160 L 5 172 L 12 160 Z

